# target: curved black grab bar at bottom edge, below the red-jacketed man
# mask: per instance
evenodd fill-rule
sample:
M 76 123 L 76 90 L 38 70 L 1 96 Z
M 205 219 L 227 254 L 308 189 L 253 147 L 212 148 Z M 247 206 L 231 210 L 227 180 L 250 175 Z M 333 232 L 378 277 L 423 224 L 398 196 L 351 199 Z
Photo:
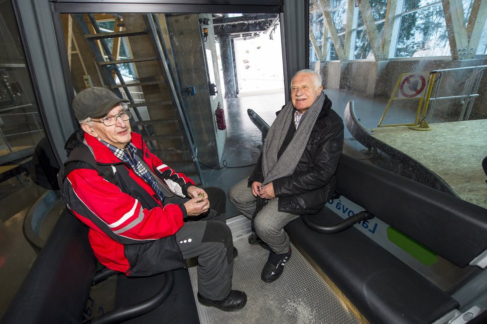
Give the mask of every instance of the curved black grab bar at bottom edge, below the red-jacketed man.
M 130 306 L 124 306 L 120 309 L 110 311 L 99 317 L 91 319 L 86 324 L 108 324 L 108 323 L 121 323 L 129 319 L 133 319 L 142 314 L 148 313 L 162 304 L 164 300 L 169 296 L 174 286 L 174 273 L 168 271 L 164 273 L 165 282 L 162 288 L 153 297 L 146 299 L 143 302 L 136 303 Z

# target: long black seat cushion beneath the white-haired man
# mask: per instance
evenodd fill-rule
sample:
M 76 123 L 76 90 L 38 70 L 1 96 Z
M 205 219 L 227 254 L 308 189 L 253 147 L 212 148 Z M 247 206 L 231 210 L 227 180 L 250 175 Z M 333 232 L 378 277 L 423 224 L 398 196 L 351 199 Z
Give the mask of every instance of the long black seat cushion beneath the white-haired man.
M 321 225 L 343 220 L 329 208 L 310 219 Z M 370 323 L 431 323 L 459 307 L 457 301 L 355 227 L 321 234 L 299 217 L 285 230 Z

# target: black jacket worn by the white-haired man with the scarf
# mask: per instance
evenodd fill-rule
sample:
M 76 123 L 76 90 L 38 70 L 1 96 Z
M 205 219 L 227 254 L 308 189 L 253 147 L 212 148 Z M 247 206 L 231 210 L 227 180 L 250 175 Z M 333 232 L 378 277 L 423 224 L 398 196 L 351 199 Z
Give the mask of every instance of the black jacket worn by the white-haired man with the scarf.
M 342 118 L 331 107 L 331 100 L 325 96 L 323 108 L 293 174 L 272 181 L 281 212 L 316 214 L 335 191 L 335 171 L 342 155 L 344 127 Z M 248 181 L 250 185 L 253 181 L 263 180 L 260 154 Z

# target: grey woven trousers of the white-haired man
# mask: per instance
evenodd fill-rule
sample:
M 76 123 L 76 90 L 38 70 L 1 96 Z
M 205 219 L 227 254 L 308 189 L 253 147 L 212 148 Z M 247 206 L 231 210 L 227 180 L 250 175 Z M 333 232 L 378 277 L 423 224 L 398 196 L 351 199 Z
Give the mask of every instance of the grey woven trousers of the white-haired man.
M 244 179 L 228 192 L 230 202 L 251 219 L 255 210 L 256 198 L 252 195 L 252 188 L 248 187 L 248 179 Z M 284 231 L 284 226 L 299 217 L 277 210 L 279 198 L 268 200 L 254 219 L 255 232 L 259 238 L 267 243 L 275 253 L 286 253 L 290 247 L 289 236 Z

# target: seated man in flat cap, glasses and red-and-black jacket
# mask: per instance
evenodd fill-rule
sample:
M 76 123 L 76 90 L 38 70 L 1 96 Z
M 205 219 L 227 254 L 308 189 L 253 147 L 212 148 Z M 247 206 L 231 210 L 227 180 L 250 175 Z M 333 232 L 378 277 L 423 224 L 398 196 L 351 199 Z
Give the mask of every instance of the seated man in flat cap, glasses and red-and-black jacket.
M 226 195 L 198 188 L 153 155 L 130 128 L 128 100 L 103 87 L 73 100 L 81 124 L 66 142 L 59 173 L 71 213 L 90 228 L 98 260 L 127 276 L 183 268 L 198 258 L 198 300 L 223 311 L 243 308 L 232 290 L 232 234 L 225 223 Z

